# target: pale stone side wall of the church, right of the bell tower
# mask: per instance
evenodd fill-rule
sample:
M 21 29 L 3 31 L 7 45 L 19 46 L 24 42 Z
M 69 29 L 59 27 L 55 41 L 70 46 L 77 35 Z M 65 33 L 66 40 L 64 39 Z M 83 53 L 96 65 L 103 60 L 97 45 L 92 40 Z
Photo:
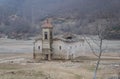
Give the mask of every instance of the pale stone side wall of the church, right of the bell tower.
M 61 40 L 54 41 L 53 43 L 53 53 L 66 57 L 69 59 L 71 56 L 73 58 L 85 55 L 84 54 L 84 42 L 72 42 L 67 43 Z

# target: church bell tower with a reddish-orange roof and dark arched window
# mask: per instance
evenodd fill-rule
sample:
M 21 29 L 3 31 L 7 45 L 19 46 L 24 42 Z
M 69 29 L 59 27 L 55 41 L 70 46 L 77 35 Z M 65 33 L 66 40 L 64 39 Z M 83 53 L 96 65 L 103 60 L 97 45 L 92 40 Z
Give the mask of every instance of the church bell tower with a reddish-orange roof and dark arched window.
M 42 54 L 45 56 L 46 60 L 52 59 L 52 42 L 53 42 L 53 26 L 51 24 L 51 19 L 44 21 L 42 25 Z

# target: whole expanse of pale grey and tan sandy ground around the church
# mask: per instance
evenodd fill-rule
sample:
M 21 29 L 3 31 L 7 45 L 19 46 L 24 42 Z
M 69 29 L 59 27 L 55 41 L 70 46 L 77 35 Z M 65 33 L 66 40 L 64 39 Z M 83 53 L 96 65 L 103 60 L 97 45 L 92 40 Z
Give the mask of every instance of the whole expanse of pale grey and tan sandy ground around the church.
M 98 79 L 114 79 L 120 72 L 120 41 L 107 41 L 112 52 L 104 53 Z M 77 61 L 40 61 L 32 57 L 33 40 L 0 39 L 0 79 L 93 79 L 96 58 Z M 114 49 L 114 50 L 113 50 Z

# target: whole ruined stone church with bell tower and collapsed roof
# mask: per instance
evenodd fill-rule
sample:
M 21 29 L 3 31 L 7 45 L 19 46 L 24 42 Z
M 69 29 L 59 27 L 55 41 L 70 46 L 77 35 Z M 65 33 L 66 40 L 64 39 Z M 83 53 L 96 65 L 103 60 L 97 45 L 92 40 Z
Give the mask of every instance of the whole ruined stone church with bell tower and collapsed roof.
M 34 42 L 34 59 L 74 59 L 84 55 L 82 36 L 71 33 L 53 36 L 54 27 L 49 19 L 41 27 L 42 37 Z

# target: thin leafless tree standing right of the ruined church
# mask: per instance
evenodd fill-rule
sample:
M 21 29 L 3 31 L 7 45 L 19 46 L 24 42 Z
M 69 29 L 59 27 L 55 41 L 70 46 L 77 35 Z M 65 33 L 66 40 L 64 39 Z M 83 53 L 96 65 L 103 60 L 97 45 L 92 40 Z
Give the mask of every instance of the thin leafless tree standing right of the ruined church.
M 88 43 L 90 49 L 92 50 L 92 53 L 95 56 L 98 57 L 97 63 L 96 63 L 96 68 L 95 68 L 95 71 L 94 71 L 94 77 L 93 77 L 93 79 L 97 79 L 96 75 L 97 75 L 97 71 L 98 71 L 98 68 L 99 68 L 100 61 L 101 61 L 101 56 L 102 56 L 102 53 L 104 51 L 104 49 L 103 49 L 103 39 L 104 39 L 104 35 L 106 33 L 107 26 L 108 26 L 107 20 L 105 20 L 105 19 L 98 20 L 95 23 L 96 34 L 98 36 L 98 39 L 93 39 L 93 37 L 89 36 L 89 38 L 93 41 L 93 43 L 96 44 L 96 46 L 98 47 L 98 51 L 94 50 L 94 47 L 92 46 L 92 44 L 90 43 L 90 41 L 86 39 L 85 35 L 83 35 L 84 39 L 86 40 L 86 42 Z

